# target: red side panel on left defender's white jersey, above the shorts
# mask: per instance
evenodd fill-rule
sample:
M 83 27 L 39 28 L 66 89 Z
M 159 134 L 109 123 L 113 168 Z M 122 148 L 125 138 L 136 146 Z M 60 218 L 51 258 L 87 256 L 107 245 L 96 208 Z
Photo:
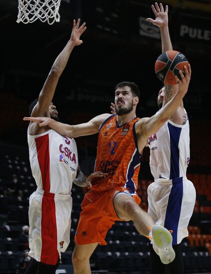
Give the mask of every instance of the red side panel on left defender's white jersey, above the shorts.
M 36 143 L 37 158 L 42 176 L 42 189 L 50 192 L 50 155 L 48 134 L 34 139 Z

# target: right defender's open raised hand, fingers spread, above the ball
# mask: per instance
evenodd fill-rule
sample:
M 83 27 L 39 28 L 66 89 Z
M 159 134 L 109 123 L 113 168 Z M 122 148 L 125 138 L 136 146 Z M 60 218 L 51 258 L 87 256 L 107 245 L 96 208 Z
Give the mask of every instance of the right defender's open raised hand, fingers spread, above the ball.
M 160 3 L 160 7 L 158 3 L 155 3 L 155 6 L 152 5 L 152 10 L 155 14 L 155 20 L 152 18 L 147 18 L 147 21 L 150 21 L 154 25 L 158 27 L 164 27 L 168 25 L 168 5 L 166 5 L 166 10 L 164 11 L 163 4 Z

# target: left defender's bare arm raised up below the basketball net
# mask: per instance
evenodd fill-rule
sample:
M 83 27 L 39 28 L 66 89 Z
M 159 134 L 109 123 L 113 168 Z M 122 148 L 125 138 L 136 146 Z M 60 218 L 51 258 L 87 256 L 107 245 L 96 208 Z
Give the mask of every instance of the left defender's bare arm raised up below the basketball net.
M 38 103 L 34 107 L 31 116 L 47 116 L 49 117 L 48 108 L 53 99 L 53 95 L 58 83 L 59 77 L 61 76 L 64 68 L 66 67 L 69 56 L 75 46 L 82 44 L 80 40 L 81 34 L 86 30 L 86 23 L 83 23 L 80 27 L 80 19 L 78 19 L 77 24 L 75 19 L 73 20 L 73 28 L 69 41 L 65 45 L 64 49 L 57 56 L 54 61 L 48 77 L 44 83 L 44 86 L 39 94 Z

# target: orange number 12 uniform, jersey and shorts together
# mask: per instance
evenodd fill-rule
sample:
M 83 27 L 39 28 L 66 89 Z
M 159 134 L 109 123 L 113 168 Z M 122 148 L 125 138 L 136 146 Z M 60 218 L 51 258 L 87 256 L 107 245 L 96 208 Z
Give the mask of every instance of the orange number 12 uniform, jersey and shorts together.
M 141 199 L 136 193 L 140 169 L 135 123 L 119 126 L 116 115 L 104 121 L 99 130 L 95 171 L 109 175 L 92 182 L 81 204 L 75 242 L 106 245 L 105 236 L 115 221 L 122 221 L 114 208 L 113 199 L 120 193 L 128 194 L 137 204 Z

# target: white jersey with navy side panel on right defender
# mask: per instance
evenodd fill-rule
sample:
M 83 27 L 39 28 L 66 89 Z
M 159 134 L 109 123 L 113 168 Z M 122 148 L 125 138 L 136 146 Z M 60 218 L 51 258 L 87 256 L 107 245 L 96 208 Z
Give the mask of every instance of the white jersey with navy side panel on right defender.
M 168 120 L 156 134 L 148 138 L 150 168 L 155 180 L 186 177 L 190 161 L 190 128 L 187 113 L 186 118 L 185 125 L 176 125 Z

